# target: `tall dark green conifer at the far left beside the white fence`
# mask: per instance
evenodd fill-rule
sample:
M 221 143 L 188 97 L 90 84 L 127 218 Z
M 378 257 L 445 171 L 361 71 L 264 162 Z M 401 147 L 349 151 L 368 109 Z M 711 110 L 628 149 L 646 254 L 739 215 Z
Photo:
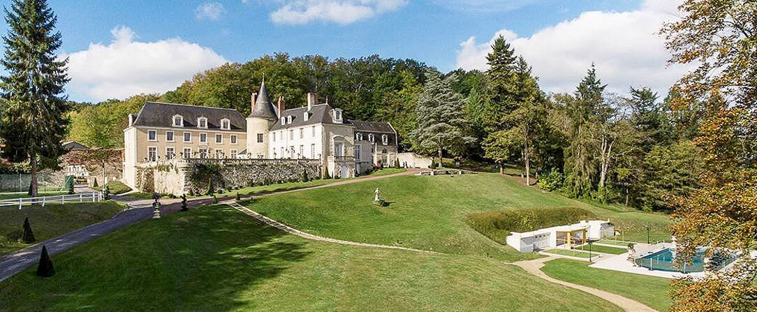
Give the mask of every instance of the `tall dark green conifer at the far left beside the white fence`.
M 13 0 L 5 9 L 8 34 L 3 37 L 8 71 L 2 80 L 2 101 L 6 106 L 0 125 L 5 141 L 2 154 L 10 161 L 29 161 L 31 194 L 37 195 L 37 172 L 58 167 L 66 135 L 69 107 L 63 95 L 69 81 L 68 59 L 59 60 L 61 33 L 55 32 L 58 18 L 45 0 Z

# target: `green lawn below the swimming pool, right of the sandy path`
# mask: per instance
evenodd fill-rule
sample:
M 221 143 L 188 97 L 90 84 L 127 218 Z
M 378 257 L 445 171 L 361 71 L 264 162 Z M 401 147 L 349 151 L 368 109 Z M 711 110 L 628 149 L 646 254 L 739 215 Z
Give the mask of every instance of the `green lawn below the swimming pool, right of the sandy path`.
M 622 295 L 657 310 L 668 310 L 671 305 L 670 279 L 595 269 L 586 262 L 568 259 L 548 261 L 541 270 L 553 278 Z

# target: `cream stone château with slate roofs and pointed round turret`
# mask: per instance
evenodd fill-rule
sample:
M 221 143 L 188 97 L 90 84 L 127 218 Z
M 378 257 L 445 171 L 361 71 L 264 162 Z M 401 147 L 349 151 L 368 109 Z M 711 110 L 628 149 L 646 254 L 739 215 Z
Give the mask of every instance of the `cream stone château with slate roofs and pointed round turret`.
M 307 94 L 307 105 L 287 109 L 269 100 L 265 81 L 251 96 L 251 114 L 229 108 L 149 101 L 129 114 L 123 179 L 137 185 L 139 167 L 186 159 L 319 161 L 322 173 L 351 177 L 374 165 L 394 165 L 397 131 L 389 123 L 347 120 L 343 111 Z

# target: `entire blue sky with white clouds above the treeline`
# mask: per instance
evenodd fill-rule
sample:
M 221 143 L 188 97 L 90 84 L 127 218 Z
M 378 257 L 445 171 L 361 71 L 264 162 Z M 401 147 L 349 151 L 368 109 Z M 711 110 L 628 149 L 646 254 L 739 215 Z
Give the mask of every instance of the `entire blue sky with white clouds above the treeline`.
M 612 91 L 650 86 L 664 94 L 686 70 L 666 65 L 657 34 L 680 16 L 678 1 L 49 0 L 76 101 L 165 92 L 199 71 L 277 51 L 485 70 L 499 35 L 547 91 L 572 91 L 594 62 Z

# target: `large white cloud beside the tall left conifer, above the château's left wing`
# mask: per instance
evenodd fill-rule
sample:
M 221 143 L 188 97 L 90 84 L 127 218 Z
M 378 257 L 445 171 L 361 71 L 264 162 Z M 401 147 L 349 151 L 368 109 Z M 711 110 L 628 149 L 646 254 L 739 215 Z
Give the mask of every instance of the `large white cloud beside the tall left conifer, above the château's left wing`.
M 123 26 L 111 34 L 109 45 L 90 43 L 86 50 L 61 55 L 69 58 L 69 93 L 82 96 L 80 100 L 166 92 L 195 73 L 226 63 L 212 49 L 179 38 L 137 42 L 136 34 Z

